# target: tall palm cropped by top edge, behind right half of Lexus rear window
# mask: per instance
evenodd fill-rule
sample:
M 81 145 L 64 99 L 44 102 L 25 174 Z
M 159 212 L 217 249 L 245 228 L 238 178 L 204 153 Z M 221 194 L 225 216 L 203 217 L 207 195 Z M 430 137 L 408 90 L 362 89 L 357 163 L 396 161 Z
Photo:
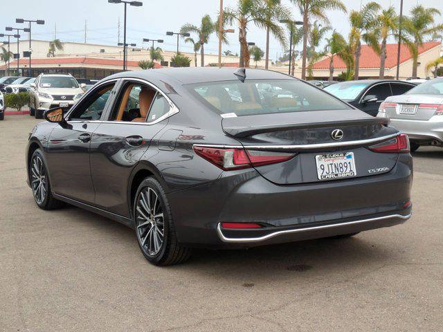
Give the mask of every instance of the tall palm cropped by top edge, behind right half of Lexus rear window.
M 307 38 L 309 34 L 309 20 L 311 18 L 329 24 L 327 10 L 341 10 L 346 12 L 346 7 L 341 0 L 291 0 L 303 15 L 303 51 L 302 51 L 302 80 L 306 79 Z

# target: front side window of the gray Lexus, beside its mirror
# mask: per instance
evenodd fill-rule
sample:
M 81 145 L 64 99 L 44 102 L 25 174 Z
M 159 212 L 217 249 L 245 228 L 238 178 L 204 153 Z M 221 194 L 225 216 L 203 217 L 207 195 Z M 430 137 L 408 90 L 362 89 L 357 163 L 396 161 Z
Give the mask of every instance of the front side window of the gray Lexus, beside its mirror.
M 99 120 L 105 110 L 112 88 L 114 88 L 114 84 L 98 88 L 96 93 L 75 107 L 69 120 Z

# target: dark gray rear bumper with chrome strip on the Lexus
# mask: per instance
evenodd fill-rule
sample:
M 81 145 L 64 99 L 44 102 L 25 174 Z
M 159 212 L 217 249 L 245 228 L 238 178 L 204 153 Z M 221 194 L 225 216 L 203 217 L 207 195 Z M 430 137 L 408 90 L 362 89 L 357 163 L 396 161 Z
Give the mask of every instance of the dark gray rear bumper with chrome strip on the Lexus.
M 225 172 L 211 183 L 170 192 L 168 200 L 181 243 L 250 247 L 402 223 L 410 214 L 412 179 L 412 158 L 401 154 L 397 165 L 385 174 L 276 185 L 255 170 Z M 224 222 L 266 227 L 226 230 L 220 225 Z M 251 241 L 230 241 L 232 237 Z

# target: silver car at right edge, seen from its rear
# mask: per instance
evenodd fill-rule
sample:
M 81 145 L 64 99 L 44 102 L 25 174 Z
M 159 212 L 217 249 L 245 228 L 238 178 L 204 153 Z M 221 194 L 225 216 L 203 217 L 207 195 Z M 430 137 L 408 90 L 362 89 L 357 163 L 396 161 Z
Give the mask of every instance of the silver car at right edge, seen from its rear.
M 409 136 L 411 151 L 420 145 L 443 147 L 443 78 L 386 98 L 377 116 Z

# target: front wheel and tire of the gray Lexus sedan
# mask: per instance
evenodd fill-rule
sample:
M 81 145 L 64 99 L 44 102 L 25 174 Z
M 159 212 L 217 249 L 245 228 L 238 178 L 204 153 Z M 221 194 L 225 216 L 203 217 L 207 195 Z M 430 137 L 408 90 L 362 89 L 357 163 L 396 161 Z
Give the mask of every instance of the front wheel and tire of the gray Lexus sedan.
M 42 210 L 55 210 L 61 208 L 63 203 L 54 198 L 51 192 L 51 183 L 40 149 L 36 149 L 30 158 L 29 181 L 33 190 L 34 201 Z M 39 189 L 39 186 L 42 189 Z

